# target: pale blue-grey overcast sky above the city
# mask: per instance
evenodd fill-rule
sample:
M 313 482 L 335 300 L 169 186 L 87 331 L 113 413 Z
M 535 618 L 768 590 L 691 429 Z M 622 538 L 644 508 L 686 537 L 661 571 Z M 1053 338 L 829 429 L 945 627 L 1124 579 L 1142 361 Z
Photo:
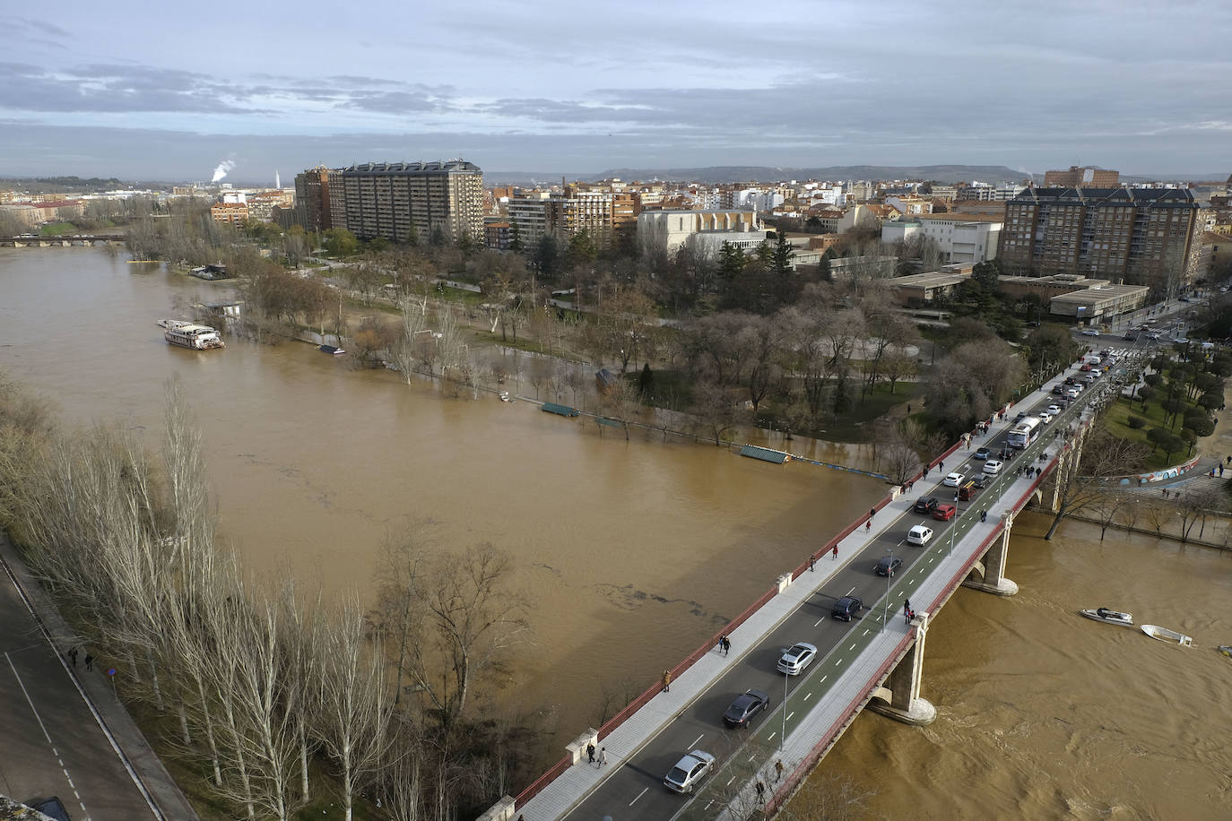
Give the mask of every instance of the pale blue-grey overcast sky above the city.
M 1230 0 L 37 9 L 0 27 L 0 175 L 208 180 L 228 160 L 287 183 L 460 156 L 1232 171 Z

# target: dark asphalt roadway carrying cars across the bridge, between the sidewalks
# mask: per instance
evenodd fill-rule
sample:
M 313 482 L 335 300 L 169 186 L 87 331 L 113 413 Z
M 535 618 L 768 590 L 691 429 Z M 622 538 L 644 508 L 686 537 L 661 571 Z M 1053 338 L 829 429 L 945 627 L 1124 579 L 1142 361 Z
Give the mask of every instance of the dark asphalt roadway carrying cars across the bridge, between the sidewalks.
M 1117 346 L 1129 350 L 1129 346 Z M 1072 370 L 1078 373 L 1077 369 Z M 1099 389 L 1099 383 L 1094 386 Z M 1029 412 L 1039 412 L 1042 407 L 1053 401 L 1047 398 L 1037 402 Z M 1052 425 L 1041 426 L 1041 439 L 1051 441 L 1052 431 L 1058 430 L 1071 420 L 1072 414 L 1067 414 L 1062 420 Z M 993 451 L 999 451 L 1005 439 L 1005 433 L 978 439 L 973 446 L 988 446 Z M 1040 448 L 1032 448 L 1031 458 Z M 933 490 L 933 483 L 939 480 L 946 471 L 961 471 L 972 476 L 983 469 L 983 463 L 971 457 L 972 451 L 966 452 L 967 458 L 955 458 L 945 464 L 945 470 L 934 469 L 928 480 L 924 480 L 914 489 L 915 496 L 923 491 L 926 495 L 936 495 L 941 501 L 951 501 L 954 489 L 938 487 Z M 1021 464 L 1020 459 L 1007 463 L 1005 471 L 1013 474 L 1014 469 Z M 1007 481 L 998 483 L 995 487 L 987 489 L 986 494 L 998 494 L 1000 487 L 1009 484 L 1013 475 L 1007 476 Z M 979 507 L 977 496 L 971 505 Z M 967 502 L 961 503 L 962 511 L 968 508 Z M 829 580 L 829 582 L 808 601 L 801 604 L 793 613 L 785 618 L 779 627 L 771 630 L 756 647 L 750 649 L 742 659 L 732 665 L 731 670 L 721 676 L 710 688 L 690 703 L 678 718 L 667 725 L 655 737 L 643 746 L 630 759 L 615 766 L 615 771 L 598 788 L 595 788 L 578 806 L 564 817 L 573 821 L 604 819 L 671 819 L 678 815 L 685 817 L 708 817 L 713 815 L 712 805 L 716 801 L 724 801 L 736 790 L 748 783 L 749 777 L 758 772 L 766 772 L 765 764 L 774 761 L 774 751 L 777 736 L 781 734 L 781 725 L 786 721 L 787 732 L 792 725 L 800 723 L 804 714 L 825 697 L 827 691 L 841 675 L 843 666 L 854 657 L 867 639 L 861 640 L 867 633 L 880 629 L 882 614 L 887 618 L 903 617 L 903 602 L 897 598 L 886 602 L 887 582 L 890 580 L 878 577 L 873 572 L 873 566 L 881 556 L 893 553 L 903 559 L 903 566 L 898 570 L 898 579 L 908 576 L 913 570 L 928 572 L 931 565 L 944 555 L 944 545 L 955 535 L 954 522 L 939 522 L 930 517 L 915 513 L 896 513 L 883 510 L 878 517 L 894 517 L 891 524 L 882 529 L 876 538 L 867 544 L 855 556 L 839 556 L 843 567 Z M 968 517 L 970 518 L 970 517 Z M 877 526 L 883 521 L 875 519 Z M 934 531 L 930 549 L 908 547 L 904 543 L 907 531 L 913 524 L 925 523 Z M 961 528 L 970 528 L 970 522 L 962 523 Z M 965 532 L 965 531 L 963 531 Z M 960 532 L 957 538 L 961 538 Z M 823 556 L 819 563 L 830 563 L 830 556 Z M 920 567 L 915 565 L 920 563 Z M 828 567 L 827 567 L 828 569 Z M 896 581 L 898 580 L 896 579 Z M 833 603 L 841 596 L 859 596 L 867 604 L 860 619 L 851 623 L 843 623 L 830 617 Z M 866 629 L 861 629 L 866 628 Z M 808 641 L 818 647 L 818 661 L 806 675 L 788 678 L 779 673 L 775 668 L 782 651 L 796 641 Z M 740 647 L 733 647 L 733 654 L 739 654 Z M 723 710 L 727 709 L 732 699 L 745 689 L 759 689 L 771 698 L 771 708 L 764 710 L 753 719 L 749 729 L 731 730 L 722 723 Z M 786 693 L 785 693 L 786 688 Z M 788 698 L 787 710 L 775 710 L 785 695 Z M 785 718 L 786 716 L 786 718 Z M 763 727 L 766 721 L 771 726 Z M 754 739 L 756 736 L 756 739 Z M 703 783 L 705 794 L 692 803 L 690 796 L 681 796 L 668 791 L 663 785 L 663 777 L 675 764 L 679 758 L 690 750 L 705 750 L 718 758 L 712 783 Z M 737 756 L 738 757 L 734 757 Z M 772 773 L 772 771 L 770 771 Z M 768 782 L 768 787 L 772 783 Z

